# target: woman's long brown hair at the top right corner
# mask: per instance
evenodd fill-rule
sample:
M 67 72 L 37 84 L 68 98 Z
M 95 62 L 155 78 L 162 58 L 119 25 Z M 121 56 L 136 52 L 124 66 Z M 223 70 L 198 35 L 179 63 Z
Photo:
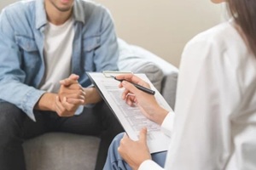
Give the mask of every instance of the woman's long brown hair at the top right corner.
M 241 27 L 256 56 L 256 0 L 227 0 L 230 14 Z

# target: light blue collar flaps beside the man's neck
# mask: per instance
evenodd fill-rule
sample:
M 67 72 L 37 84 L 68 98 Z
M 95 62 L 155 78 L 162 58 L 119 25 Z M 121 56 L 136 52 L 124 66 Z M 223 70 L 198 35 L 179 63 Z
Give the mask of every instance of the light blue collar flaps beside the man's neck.
M 73 18 L 75 21 L 85 23 L 84 8 L 80 0 L 75 0 L 73 4 Z M 40 29 L 47 24 L 46 11 L 44 8 L 44 0 L 36 0 L 36 28 Z

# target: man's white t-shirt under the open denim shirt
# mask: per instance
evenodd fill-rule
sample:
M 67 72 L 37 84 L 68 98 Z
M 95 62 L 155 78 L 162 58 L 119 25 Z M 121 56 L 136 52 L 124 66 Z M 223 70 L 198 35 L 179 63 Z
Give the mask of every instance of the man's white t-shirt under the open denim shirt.
M 41 90 L 57 93 L 60 80 L 71 74 L 71 58 L 73 52 L 73 17 L 61 26 L 48 23 L 45 30 L 44 61 L 45 82 Z

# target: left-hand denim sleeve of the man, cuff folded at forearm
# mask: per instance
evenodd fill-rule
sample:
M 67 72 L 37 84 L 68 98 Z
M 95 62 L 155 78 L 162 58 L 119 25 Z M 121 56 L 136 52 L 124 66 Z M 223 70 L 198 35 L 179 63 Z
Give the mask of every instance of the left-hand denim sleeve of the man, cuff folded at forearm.
M 0 100 L 16 105 L 33 121 L 33 108 L 44 94 L 25 84 L 22 58 L 15 43 L 15 30 L 5 11 L 0 15 Z

